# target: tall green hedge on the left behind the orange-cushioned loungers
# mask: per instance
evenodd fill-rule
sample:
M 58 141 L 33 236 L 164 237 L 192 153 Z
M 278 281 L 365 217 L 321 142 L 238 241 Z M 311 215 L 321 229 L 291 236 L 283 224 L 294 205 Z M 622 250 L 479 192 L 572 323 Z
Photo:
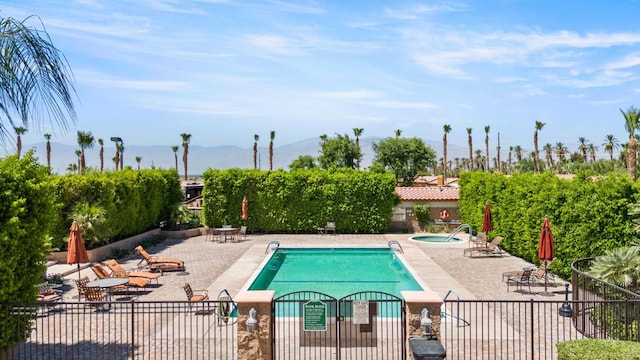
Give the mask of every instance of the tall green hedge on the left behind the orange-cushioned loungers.
M 74 205 L 98 205 L 105 211 L 104 240 L 121 239 L 157 227 L 169 220 L 184 195 L 175 170 L 123 170 L 71 174 L 52 178 L 58 221 L 52 232 L 53 246 L 64 247 L 69 236 Z

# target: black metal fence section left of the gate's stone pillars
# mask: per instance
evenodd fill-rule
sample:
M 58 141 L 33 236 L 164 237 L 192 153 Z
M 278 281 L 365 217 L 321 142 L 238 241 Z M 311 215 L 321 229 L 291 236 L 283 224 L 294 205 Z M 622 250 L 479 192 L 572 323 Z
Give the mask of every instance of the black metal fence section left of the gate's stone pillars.
M 2 304 L 5 329 L 26 328 L 7 359 L 235 359 L 236 318 L 220 302 Z M 2 331 L 19 339 L 19 331 Z M 0 335 L 5 336 L 5 335 Z

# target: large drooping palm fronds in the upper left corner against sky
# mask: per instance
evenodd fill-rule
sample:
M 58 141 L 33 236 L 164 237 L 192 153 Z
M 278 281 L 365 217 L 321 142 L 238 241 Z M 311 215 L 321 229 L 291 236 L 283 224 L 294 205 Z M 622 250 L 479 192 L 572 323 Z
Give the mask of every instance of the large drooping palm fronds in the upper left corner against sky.
M 76 119 L 73 76 L 44 26 L 38 29 L 26 25 L 32 18 L 40 20 L 33 16 L 23 21 L 0 18 L 0 111 L 11 127 L 16 127 L 13 114 L 18 115 L 24 127 L 28 127 L 33 114 L 42 114 L 38 121 L 49 121 L 53 117 L 66 129 L 66 115 Z M 7 128 L 0 124 L 0 136 Z

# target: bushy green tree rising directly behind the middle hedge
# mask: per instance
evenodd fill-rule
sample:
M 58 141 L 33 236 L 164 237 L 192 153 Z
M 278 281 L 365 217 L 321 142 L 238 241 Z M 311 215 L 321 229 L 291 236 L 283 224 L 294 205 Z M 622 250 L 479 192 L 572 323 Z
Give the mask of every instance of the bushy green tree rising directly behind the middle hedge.
M 330 167 L 355 169 L 356 161 L 362 158 L 355 141 L 347 134 L 336 134 L 335 138 L 322 135 L 320 140 L 318 163 L 322 169 Z

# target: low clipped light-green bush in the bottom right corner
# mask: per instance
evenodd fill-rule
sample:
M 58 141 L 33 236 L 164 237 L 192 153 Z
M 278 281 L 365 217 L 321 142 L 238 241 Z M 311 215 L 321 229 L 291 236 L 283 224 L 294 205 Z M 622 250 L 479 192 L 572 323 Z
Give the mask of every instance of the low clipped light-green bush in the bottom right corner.
M 558 360 L 638 360 L 640 343 L 604 339 L 560 342 Z

